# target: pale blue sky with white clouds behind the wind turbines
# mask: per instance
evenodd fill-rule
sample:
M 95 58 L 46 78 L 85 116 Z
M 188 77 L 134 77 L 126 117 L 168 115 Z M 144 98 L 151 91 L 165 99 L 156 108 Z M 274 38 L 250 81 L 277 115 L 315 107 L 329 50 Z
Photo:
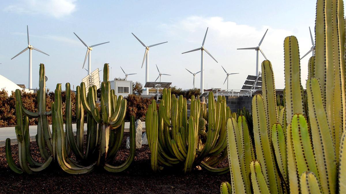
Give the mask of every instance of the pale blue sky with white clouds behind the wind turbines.
M 33 50 L 33 88 L 38 87 L 39 64 L 45 64 L 47 88 L 57 83 L 80 85 L 87 71 L 82 69 L 86 44 L 94 45 L 91 69 L 111 67 L 111 78 L 125 77 L 145 83 L 145 64 L 141 69 L 146 45 L 168 41 L 149 50 L 149 81 L 158 72 L 161 81 L 172 82 L 182 89 L 192 88 L 193 76 L 185 70 L 200 71 L 201 52 L 182 52 L 201 47 L 209 27 L 204 47 L 218 61 L 204 54 L 204 88 L 241 89 L 247 75 L 255 75 L 256 51 L 237 48 L 256 47 L 266 29 L 261 49 L 272 62 L 275 86 L 284 87 L 283 41 L 286 36 L 298 38 L 300 56 L 311 48 L 309 26 L 315 37 L 316 0 L 291 1 L 89 1 L 89 0 L 12 0 L 0 1 L 0 74 L 16 84 L 28 86 L 28 55 L 26 25 L 30 44 L 50 56 Z M 305 86 L 308 59 L 301 60 L 301 79 Z M 260 53 L 259 61 L 264 57 Z M 261 65 L 261 64 L 260 64 Z M 87 62 L 85 67 L 87 68 Z M 261 67 L 261 66 L 260 66 Z M 102 71 L 100 72 L 102 76 Z M 200 87 L 200 74 L 195 77 Z M 64 86 L 63 86 L 64 89 Z

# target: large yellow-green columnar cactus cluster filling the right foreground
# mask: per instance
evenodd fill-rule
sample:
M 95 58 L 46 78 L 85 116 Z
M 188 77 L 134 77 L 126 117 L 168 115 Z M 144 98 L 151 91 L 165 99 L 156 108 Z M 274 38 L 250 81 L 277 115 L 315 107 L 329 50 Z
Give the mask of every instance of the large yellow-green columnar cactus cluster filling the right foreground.
M 228 119 L 231 182 L 222 183 L 221 193 L 346 191 L 343 11 L 342 0 L 317 0 L 316 55 L 309 60 L 306 96 L 297 38 L 284 40 L 285 107 L 276 103 L 271 63 L 262 62 L 263 96 L 252 100 L 255 145 L 245 138 L 244 116 Z

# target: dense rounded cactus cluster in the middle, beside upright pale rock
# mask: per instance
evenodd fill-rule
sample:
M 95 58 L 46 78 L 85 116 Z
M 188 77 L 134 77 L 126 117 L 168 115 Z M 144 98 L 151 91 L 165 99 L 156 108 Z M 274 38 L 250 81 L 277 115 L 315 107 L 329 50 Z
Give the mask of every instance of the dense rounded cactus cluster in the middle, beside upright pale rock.
M 231 111 L 225 97 L 215 101 L 209 93 L 209 107 L 199 97 L 191 97 L 190 117 L 186 98 L 164 89 L 159 108 L 153 100 L 146 113 L 146 131 L 154 172 L 163 167 L 180 167 L 185 173 L 200 165 L 223 174 L 228 167 L 215 168 L 227 157 L 226 119 Z M 235 115 L 235 114 L 234 114 Z

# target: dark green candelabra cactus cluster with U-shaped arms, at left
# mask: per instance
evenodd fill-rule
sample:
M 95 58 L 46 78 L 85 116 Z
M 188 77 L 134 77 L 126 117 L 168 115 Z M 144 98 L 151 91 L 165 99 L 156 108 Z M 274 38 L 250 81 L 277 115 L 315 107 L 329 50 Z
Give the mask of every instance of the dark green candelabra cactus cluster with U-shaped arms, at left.
M 77 136 L 72 132 L 72 102 L 70 84 L 66 83 L 65 122 L 62 112 L 61 84 L 57 84 L 54 93 L 52 110 L 45 107 L 45 73 L 44 65 L 40 65 L 39 90 L 37 92 L 38 112 L 26 110 L 21 101 L 20 90 L 16 90 L 16 135 L 18 139 L 18 155 L 20 167 L 16 166 L 11 154 L 10 139 L 6 140 L 6 157 L 10 168 L 16 173 L 33 173 L 45 169 L 54 161 L 65 172 L 83 174 L 101 166 L 110 172 L 125 170 L 134 159 L 135 154 L 135 126 L 134 116 L 130 119 L 130 155 L 119 166 L 112 166 L 112 162 L 124 135 L 124 118 L 126 113 L 126 99 L 117 97 L 110 89 L 108 81 L 108 64 L 104 64 L 103 82 L 101 85 L 101 105 L 96 103 L 96 87 L 89 88 L 86 95 L 85 85 L 76 88 L 76 118 Z M 100 108 L 100 111 L 98 109 Z M 87 116 L 86 149 L 83 149 L 84 111 Z M 49 129 L 47 116 L 52 116 L 52 132 Z M 29 118 L 38 118 L 36 141 L 41 156 L 46 162 L 38 163 L 30 155 Z M 65 123 L 65 129 L 63 124 Z M 71 154 L 75 160 L 71 158 Z

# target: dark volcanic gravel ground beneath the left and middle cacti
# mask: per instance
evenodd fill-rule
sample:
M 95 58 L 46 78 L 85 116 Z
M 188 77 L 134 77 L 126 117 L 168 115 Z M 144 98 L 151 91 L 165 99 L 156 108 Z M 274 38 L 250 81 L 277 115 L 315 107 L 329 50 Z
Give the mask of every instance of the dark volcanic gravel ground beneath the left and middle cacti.
M 120 164 L 128 157 L 127 136 L 125 133 L 114 164 Z M 31 149 L 33 158 L 39 161 L 36 142 L 31 142 Z M 12 145 L 16 162 L 17 152 L 18 146 Z M 220 164 L 227 165 L 227 159 Z M 53 166 L 51 164 L 49 169 L 33 175 L 16 174 L 7 165 L 5 147 L 0 147 L 0 193 L 220 193 L 221 182 L 230 181 L 229 173 L 215 175 L 203 169 L 193 169 L 187 175 L 177 169 L 165 169 L 155 174 L 150 166 L 148 145 L 136 149 L 134 161 L 121 173 L 95 169 L 90 174 L 70 175 Z

